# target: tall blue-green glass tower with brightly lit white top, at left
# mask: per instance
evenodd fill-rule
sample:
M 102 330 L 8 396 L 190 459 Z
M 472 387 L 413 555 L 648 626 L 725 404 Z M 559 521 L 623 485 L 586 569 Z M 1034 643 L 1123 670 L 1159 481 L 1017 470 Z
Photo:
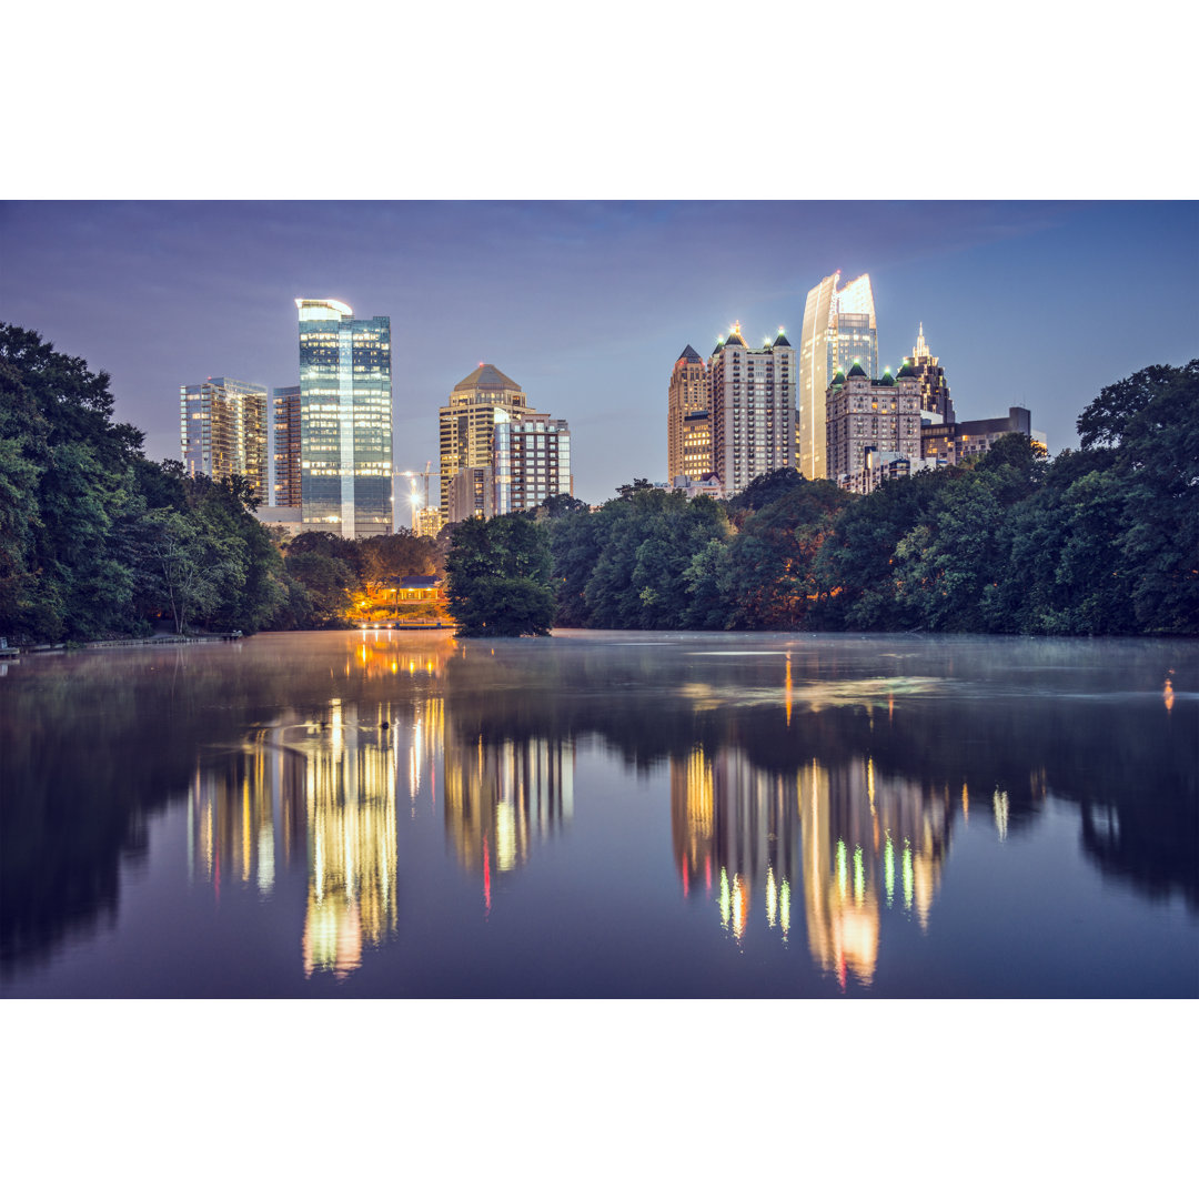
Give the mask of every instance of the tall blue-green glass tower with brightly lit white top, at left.
M 338 300 L 300 313 L 300 506 L 306 530 L 392 531 L 391 321 Z

